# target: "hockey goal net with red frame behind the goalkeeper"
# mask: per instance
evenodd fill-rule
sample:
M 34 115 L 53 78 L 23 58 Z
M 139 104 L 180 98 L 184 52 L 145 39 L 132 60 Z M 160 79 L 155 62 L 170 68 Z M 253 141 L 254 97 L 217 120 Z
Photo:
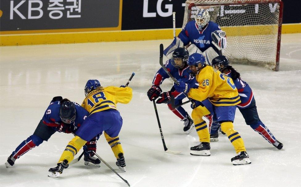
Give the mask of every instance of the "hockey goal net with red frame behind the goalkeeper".
M 279 71 L 283 4 L 281 0 L 187 0 L 183 27 L 200 8 L 227 35 L 223 55 L 230 62 Z

